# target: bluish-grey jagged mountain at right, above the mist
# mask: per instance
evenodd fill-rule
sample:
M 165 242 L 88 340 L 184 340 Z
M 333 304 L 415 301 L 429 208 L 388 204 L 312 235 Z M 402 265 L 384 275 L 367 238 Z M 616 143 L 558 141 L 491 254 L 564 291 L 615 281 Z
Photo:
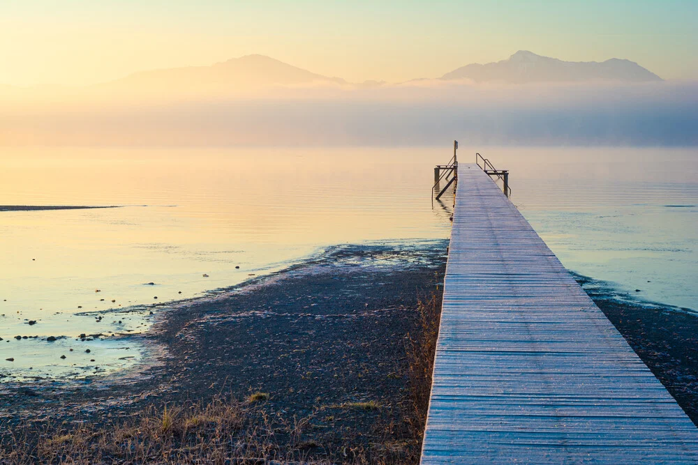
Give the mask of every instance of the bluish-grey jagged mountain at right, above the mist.
M 446 73 L 440 79 L 472 79 L 475 82 L 648 82 L 662 78 L 637 63 L 612 58 L 596 61 L 562 61 L 519 50 L 509 59 L 481 65 L 473 63 Z

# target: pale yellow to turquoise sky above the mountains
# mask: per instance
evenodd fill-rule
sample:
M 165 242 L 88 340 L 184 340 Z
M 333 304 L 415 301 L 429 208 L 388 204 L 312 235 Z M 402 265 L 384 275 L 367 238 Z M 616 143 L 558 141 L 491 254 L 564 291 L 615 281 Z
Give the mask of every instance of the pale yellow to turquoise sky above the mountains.
M 82 85 L 254 53 L 399 82 L 518 49 L 698 79 L 697 18 L 697 0 L 2 0 L 0 84 Z

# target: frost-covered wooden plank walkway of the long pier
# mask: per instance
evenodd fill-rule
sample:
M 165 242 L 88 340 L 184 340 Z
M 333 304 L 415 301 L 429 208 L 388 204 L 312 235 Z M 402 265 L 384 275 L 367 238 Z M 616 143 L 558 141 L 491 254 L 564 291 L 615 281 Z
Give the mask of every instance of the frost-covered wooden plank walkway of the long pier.
M 477 165 L 459 164 L 422 464 L 698 463 L 698 429 Z

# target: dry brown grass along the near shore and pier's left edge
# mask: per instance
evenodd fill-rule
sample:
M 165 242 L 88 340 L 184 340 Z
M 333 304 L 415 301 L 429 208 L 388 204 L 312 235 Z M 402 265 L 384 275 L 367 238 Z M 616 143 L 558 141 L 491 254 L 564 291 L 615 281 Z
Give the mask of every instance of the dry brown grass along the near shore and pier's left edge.
M 25 424 L 0 436 L 0 464 L 416 464 L 429 406 L 440 310 L 440 294 L 420 298 L 417 329 L 406 337 L 406 372 L 398 375 L 408 380 L 409 408 L 401 412 L 407 438 L 403 425 L 387 422 L 376 425 L 376 437 L 371 437 L 368 447 L 351 436 L 342 437 L 339 446 L 323 445 L 306 434 L 319 411 L 300 420 L 288 419 L 269 408 L 267 392 L 258 391 L 243 402 L 218 396 L 190 406 L 151 407 L 128 420 L 98 426 Z M 335 407 L 383 409 L 374 400 Z M 0 424 L 0 431 L 6 428 Z

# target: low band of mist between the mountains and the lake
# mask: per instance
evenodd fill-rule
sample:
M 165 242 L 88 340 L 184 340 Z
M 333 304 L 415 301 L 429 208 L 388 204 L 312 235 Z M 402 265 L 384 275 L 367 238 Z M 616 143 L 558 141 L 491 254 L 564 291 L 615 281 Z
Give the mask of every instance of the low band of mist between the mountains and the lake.
M 698 145 L 698 83 L 0 91 L 2 145 Z

